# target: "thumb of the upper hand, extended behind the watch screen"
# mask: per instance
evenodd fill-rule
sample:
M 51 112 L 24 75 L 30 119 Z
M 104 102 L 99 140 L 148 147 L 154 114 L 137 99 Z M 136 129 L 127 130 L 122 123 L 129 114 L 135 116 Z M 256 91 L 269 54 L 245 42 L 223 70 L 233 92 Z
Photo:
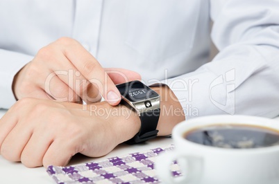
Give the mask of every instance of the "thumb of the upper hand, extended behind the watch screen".
M 139 73 L 124 68 L 104 68 L 104 70 L 115 84 L 121 84 L 132 80 L 142 80 Z

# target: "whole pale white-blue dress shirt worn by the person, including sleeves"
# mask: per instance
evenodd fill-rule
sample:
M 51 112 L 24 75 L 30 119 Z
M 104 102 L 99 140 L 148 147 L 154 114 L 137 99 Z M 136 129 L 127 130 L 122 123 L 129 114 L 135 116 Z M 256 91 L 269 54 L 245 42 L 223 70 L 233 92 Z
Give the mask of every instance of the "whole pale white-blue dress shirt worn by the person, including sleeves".
M 0 1 L 0 108 L 15 103 L 13 77 L 40 48 L 72 37 L 103 67 L 167 83 L 186 118 L 277 116 L 278 25 L 278 0 Z

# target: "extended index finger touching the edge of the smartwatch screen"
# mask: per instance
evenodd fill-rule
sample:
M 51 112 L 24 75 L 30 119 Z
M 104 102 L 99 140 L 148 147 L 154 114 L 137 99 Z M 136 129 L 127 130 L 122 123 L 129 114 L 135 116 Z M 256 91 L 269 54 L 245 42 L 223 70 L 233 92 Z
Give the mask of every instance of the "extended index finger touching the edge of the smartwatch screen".
M 77 42 L 65 49 L 65 56 L 91 82 L 111 105 L 119 104 L 121 95 L 99 62 Z

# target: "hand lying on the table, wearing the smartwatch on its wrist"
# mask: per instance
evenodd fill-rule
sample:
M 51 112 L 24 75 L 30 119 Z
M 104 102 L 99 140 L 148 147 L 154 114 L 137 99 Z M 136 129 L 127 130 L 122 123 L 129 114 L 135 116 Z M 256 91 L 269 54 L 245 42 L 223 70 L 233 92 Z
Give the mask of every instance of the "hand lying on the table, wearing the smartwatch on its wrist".
M 26 167 L 64 166 L 76 153 L 108 154 L 139 129 L 140 118 L 121 105 L 23 98 L 0 120 L 0 154 Z

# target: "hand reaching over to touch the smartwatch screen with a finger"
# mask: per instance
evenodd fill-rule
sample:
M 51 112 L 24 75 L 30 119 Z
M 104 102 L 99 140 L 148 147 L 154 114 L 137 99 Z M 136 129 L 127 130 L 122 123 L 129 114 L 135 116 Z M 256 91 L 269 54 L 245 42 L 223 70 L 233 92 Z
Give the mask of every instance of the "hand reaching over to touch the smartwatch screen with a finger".
M 101 95 L 111 105 L 121 96 L 115 84 L 140 80 L 140 74 L 101 64 L 76 40 L 62 37 L 41 48 L 34 59 L 15 76 L 17 100 L 31 97 L 87 104 Z

